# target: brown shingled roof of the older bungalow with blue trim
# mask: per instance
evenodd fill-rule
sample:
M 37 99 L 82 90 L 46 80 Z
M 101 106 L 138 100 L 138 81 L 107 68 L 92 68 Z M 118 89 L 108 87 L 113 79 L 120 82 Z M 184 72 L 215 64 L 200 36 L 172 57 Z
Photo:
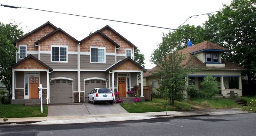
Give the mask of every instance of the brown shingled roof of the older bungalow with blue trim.
M 195 47 L 193 47 L 195 46 Z M 217 52 L 221 52 L 221 51 L 228 51 L 228 49 L 220 46 L 220 45 L 217 45 L 217 44 L 214 44 L 212 42 L 209 42 L 209 41 L 204 41 L 204 42 L 201 42 L 199 44 L 195 44 L 193 46 L 190 46 L 190 47 L 187 47 L 187 48 L 184 48 L 182 50 L 179 50 L 179 52 L 182 52 L 183 54 L 186 54 L 186 60 L 183 60 L 181 63 L 187 63 L 188 60 L 191 58 L 191 61 L 189 62 L 189 65 L 190 66 L 196 66 L 196 68 L 205 68 L 206 70 L 208 69 L 211 69 L 211 70 L 214 70 L 214 69 L 222 69 L 222 70 L 246 70 L 246 68 L 242 67 L 242 66 L 239 66 L 237 64 L 234 64 L 228 60 L 224 60 L 221 58 L 221 62 L 222 63 L 225 63 L 225 67 L 209 67 L 207 66 L 206 67 L 206 63 L 203 63 L 201 60 L 199 60 L 197 57 L 192 57 L 192 54 L 196 53 L 196 52 L 203 52 L 203 51 L 209 51 L 209 50 L 212 50 L 212 51 L 217 51 Z M 143 74 L 144 77 L 148 77 L 148 76 L 151 76 L 152 73 L 154 73 L 154 71 L 158 70 L 158 67 L 155 66 L 154 68 L 148 70 L 145 74 Z

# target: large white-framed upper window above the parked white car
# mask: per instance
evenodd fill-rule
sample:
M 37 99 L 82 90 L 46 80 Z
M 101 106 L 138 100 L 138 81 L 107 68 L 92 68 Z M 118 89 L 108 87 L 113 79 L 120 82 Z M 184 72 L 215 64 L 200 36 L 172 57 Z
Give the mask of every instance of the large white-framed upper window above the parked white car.
M 90 63 L 105 63 L 105 48 L 91 48 Z

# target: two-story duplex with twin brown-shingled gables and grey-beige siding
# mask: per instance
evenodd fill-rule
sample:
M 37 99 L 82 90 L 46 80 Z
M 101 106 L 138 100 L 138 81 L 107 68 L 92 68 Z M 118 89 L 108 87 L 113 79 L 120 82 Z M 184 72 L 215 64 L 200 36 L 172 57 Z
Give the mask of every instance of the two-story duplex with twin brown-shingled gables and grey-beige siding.
M 48 21 L 14 46 L 12 104 L 37 100 L 40 84 L 44 104 L 86 102 L 95 87 L 126 97 L 144 70 L 134 61 L 137 47 L 108 25 L 78 41 Z

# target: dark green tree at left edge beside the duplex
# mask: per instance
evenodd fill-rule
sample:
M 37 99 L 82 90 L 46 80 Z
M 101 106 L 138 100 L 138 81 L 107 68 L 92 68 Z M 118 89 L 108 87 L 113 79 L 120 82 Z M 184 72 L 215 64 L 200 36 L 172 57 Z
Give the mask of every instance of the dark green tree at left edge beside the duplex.
M 12 88 L 12 65 L 15 64 L 17 50 L 12 43 L 23 35 L 23 28 L 19 28 L 19 25 L 15 21 L 5 25 L 0 22 L 0 82 L 6 86 L 9 96 Z

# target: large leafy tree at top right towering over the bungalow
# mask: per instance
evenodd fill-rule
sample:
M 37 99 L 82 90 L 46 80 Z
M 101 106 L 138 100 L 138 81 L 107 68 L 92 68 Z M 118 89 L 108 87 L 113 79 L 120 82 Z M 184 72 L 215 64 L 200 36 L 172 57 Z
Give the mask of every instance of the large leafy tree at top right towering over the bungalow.
M 256 37 L 256 4 L 255 0 L 233 0 L 230 5 L 223 4 L 223 8 L 215 15 L 209 15 L 209 20 L 203 25 L 207 33 L 222 36 L 255 39 Z M 251 78 L 256 79 L 256 41 L 226 37 L 208 36 L 210 41 L 223 46 L 229 52 L 222 57 L 247 68 L 249 84 Z

